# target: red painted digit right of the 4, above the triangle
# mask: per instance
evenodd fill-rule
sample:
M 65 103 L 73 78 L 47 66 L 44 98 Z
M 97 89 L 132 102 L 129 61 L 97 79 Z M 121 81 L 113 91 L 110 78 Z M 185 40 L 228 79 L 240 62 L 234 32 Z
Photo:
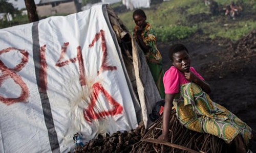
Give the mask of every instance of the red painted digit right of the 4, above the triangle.
M 106 63 L 106 58 L 108 56 L 108 52 L 107 52 L 107 48 L 106 48 L 105 32 L 103 30 L 100 30 L 100 32 L 95 35 L 95 37 L 94 37 L 92 43 L 89 45 L 89 47 L 93 47 L 94 43 L 96 41 L 98 41 L 99 38 L 101 38 L 101 47 L 102 47 L 103 56 L 101 59 L 102 63 L 101 63 L 100 69 L 97 73 L 99 74 L 104 70 L 111 70 L 111 71 L 116 70 L 117 69 L 116 66 L 109 66 Z

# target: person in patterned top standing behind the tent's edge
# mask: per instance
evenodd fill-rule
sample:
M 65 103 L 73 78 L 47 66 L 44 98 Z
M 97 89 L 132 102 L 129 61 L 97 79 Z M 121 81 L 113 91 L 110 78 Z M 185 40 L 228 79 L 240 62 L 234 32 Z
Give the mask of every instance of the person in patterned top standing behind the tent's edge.
M 164 98 L 162 56 L 156 46 L 156 32 L 146 22 L 146 14 L 138 9 L 133 12 L 134 38 L 143 50 L 148 66 L 162 98 Z

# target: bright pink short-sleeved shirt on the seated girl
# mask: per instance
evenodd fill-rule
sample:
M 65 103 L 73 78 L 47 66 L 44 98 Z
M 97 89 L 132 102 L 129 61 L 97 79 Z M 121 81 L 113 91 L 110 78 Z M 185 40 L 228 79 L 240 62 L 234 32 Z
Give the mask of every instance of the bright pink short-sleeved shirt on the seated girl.
M 204 80 L 203 77 L 195 70 L 194 67 L 189 68 L 197 77 Z M 163 76 L 164 92 L 166 94 L 178 93 L 180 85 L 189 83 L 190 81 L 185 78 L 183 72 L 178 70 L 175 66 L 171 66 Z

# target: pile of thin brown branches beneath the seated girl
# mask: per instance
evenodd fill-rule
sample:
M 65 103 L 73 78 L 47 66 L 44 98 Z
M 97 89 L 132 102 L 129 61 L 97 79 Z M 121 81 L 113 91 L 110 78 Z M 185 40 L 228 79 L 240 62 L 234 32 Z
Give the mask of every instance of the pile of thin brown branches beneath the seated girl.
M 183 127 L 172 112 L 169 122 L 169 141 L 157 138 L 162 133 L 162 117 L 146 130 L 141 141 L 133 146 L 131 152 L 227 152 L 227 144 L 220 138 L 190 131 Z

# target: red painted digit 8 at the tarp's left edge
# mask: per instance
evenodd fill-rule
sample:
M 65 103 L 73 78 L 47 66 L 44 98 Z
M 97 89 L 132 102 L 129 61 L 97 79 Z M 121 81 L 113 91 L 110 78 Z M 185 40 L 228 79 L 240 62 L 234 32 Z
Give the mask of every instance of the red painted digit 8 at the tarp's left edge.
M 27 64 L 29 53 L 23 49 L 8 47 L 1 50 L 0 55 L 10 51 L 15 51 L 15 52 L 18 51 L 20 54 L 22 54 L 22 61 L 19 64 L 17 64 L 14 68 L 8 68 L 3 63 L 3 61 L 0 60 L 0 70 L 2 71 L 2 75 L 0 77 L 0 87 L 3 85 L 3 82 L 6 79 L 11 78 L 17 85 L 20 86 L 20 88 L 22 89 L 22 92 L 17 98 L 3 97 L 2 95 L 0 95 L 0 100 L 6 105 L 11 105 L 13 103 L 18 103 L 18 102 L 26 103 L 27 98 L 29 96 L 29 89 L 25 84 L 25 82 L 22 80 L 22 78 L 16 72 L 22 70 L 23 67 Z

